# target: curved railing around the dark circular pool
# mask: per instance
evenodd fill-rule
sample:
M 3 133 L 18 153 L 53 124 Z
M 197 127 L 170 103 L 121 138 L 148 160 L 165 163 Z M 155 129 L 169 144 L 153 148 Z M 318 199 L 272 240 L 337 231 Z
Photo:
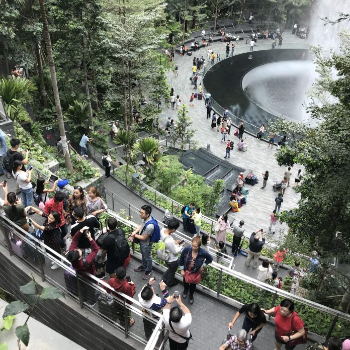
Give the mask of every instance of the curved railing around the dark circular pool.
M 277 48 L 276 49 L 272 48 L 272 43 L 273 43 L 272 40 L 271 41 L 269 40 L 270 41 L 269 44 L 267 44 L 267 43 L 260 44 L 261 40 L 265 41 L 265 40 L 269 40 L 269 39 L 259 39 L 258 44 L 254 45 L 254 51 L 251 52 L 252 54 L 255 51 L 261 51 L 261 50 L 278 50 Z M 242 46 L 242 45 L 245 45 L 245 44 L 241 43 L 241 45 L 239 45 L 239 46 Z M 233 56 L 249 52 L 249 47 L 250 47 L 249 45 L 245 45 L 243 47 L 238 47 L 238 45 L 236 45 L 235 48 L 234 48 Z M 310 45 L 307 42 L 283 43 L 283 48 L 284 49 L 309 49 L 309 47 L 310 47 Z M 211 64 L 211 61 L 207 61 L 207 64 L 204 66 L 203 70 L 200 71 L 201 79 L 200 79 L 200 81 L 197 81 L 197 84 L 199 85 L 199 83 L 202 82 L 203 93 L 207 93 L 207 89 L 205 88 L 205 85 L 203 83 L 203 78 L 204 78 L 205 74 L 208 72 L 208 70 L 210 70 L 217 63 L 220 63 L 221 61 L 223 61 L 225 59 L 229 59 L 230 57 L 232 57 L 231 56 L 231 50 L 229 52 L 228 57 L 226 57 L 226 51 L 224 51 L 222 53 L 221 52 L 218 52 L 218 53 L 220 54 L 220 61 L 217 59 L 217 57 L 215 57 L 215 61 L 214 61 L 213 64 Z M 215 53 L 215 54 L 217 54 L 217 53 Z M 213 97 L 210 98 L 210 103 L 211 103 L 213 109 L 215 110 L 215 112 L 218 115 L 222 116 L 223 113 L 225 112 L 225 108 L 223 108 L 220 104 L 218 104 L 213 99 Z M 229 115 L 229 117 L 232 120 L 232 124 L 234 126 L 236 126 L 236 127 L 238 126 L 238 124 L 241 121 L 243 121 L 243 123 L 244 123 L 244 132 L 248 132 L 249 134 L 252 134 L 252 135 L 255 136 L 258 133 L 258 131 L 260 130 L 260 125 L 256 126 L 254 124 L 251 124 L 251 123 L 247 122 L 244 119 L 244 116 L 240 116 L 239 117 L 239 116 L 234 115 L 231 112 L 228 112 L 228 115 Z M 276 117 L 276 118 L 280 118 L 280 117 Z M 265 131 L 267 131 L 267 130 L 265 130 Z M 266 133 L 266 135 L 267 135 L 267 133 Z M 278 133 L 276 133 L 275 137 L 276 136 L 278 136 L 278 137 L 280 137 L 282 139 L 284 135 L 279 135 Z M 295 141 L 294 139 L 292 139 L 290 137 L 288 137 L 288 140 L 289 141 Z

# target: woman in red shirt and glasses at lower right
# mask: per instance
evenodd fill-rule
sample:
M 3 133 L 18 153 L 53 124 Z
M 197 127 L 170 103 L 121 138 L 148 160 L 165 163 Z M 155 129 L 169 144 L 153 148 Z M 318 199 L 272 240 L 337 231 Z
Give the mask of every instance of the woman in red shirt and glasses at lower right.
M 293 350 L 296 345 L 289 345 L 288 342 L 305 336 L 304 322 L 294 311 L 293 301 L 284 299 L 279 306 L 270 310 L 261 309 L 261 311 L 266 314 L 275 314 L 275 350 L 280 350 L 282 344 L 286 345 L 286 350 Z

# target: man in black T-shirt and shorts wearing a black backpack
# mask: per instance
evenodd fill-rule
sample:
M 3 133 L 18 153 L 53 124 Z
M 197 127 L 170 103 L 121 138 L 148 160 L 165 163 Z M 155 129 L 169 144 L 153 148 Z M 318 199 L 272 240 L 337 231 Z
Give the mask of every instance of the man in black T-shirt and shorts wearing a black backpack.
M 108 234 L 103 239 L 102 243 L 100 261 L 103 261 L 107 254 L 106 271 L 110 275 L 110 278 L 116 278 L 115 270 L 124 265 L 125 259 L 127 259 L 130 254 L 130 247 L 125 238 L 125 232 L 121 228 L 117 229 L 117 225 L 118 221 L 116 218 L 108 219 Z

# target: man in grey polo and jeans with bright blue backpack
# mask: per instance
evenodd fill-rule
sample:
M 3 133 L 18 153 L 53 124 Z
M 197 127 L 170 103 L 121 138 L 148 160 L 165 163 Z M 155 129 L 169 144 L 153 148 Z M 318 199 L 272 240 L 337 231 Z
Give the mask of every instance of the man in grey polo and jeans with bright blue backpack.
M 140 250 L 142 256 L 142 265 L 134 269 L 135 272 L 144 271 L 145 274 L 142 277 L 143 280 L 147 280 L 153 272 L 153 260 L 152 260 L 152 241 L 150 239 L 154 231 L 153 218 L 151 217 L 152 207 L 145 204 L 141 207 L 140 218 L 141 224 L 136 230 L 131 233 L 133 239 L 140 240 Z

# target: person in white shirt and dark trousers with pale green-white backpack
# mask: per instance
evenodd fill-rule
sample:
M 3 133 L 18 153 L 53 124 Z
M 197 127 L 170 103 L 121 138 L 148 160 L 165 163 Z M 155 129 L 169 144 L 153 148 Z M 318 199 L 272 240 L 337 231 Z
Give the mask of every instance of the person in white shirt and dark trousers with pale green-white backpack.
M 160 230 L 160 241 L 165 244 L 165 264 L 167 270 L 163 273 L 161 279 L 164 281 L 167 287 L 177 285 L 177 281 L 174 280 L 175 273 L 179 266 L 179 252 L 183 249 L 185 242 L 179 245 L 180 239 L 174 241 L 171 234 L 174 233 L 180 226 L 180 222 L 177 219 L 170 219 L 167 226 Z

